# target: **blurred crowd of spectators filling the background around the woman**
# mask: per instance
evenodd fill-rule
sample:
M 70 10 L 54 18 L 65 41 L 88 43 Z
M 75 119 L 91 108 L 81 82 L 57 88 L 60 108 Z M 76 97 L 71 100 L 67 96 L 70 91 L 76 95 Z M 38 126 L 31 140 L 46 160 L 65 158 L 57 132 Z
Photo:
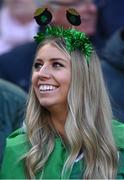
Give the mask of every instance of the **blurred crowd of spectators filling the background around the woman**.
M 89 36 L 100 57 L 113 118 L 124 123 L 122 0 L 3 0 L 0 3 L 0 78 L 3 79 L 0 81 L 0 155 L 6 137 L 24 121 L 23 110 L 37 47 L 33 36 L 42 30 L 33 20 L 33 13 L 41 5 L 52 11 L 52 24 L 64 27 L 70 27 L 66 9 L 72 7 L 80 13 L 82 23 L 77 28 Z

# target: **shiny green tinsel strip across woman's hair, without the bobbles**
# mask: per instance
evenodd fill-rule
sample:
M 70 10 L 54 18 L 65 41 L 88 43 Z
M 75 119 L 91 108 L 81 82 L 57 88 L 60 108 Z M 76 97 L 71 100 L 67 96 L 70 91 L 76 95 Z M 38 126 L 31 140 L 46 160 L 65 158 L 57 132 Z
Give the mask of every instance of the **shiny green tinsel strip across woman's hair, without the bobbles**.
M 72 52 L 76 49 L 82 50 L 87 63 L 89 64 L 93 47 L 84 32 L 80 32 L 75 29 L 64 29 L 63 27 L 58 26 L 48 26 L 46 27 L 45 32 L 37 33 L 37 36 L 35 36 L 34 39 L 37 43 L 40 43 L 47 37 L 64 38 L 67 50 L 69 52 Z

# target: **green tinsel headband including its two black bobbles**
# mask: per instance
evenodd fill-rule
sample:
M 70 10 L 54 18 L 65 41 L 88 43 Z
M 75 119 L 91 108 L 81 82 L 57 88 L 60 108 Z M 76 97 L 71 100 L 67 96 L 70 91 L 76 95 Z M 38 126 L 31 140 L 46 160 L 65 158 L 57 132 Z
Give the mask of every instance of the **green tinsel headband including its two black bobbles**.
M 71 12 L 73 12 L 73 14 L 70 16 L 69 13 Z M 79 19 L 80 16 L 74 9 L 69 9 L 66 16 L 68 20 L 70 19 L 71 24 L 79 25 L 81 23 Z M 52 15 L 46 8 L 40 8 L 35 12 L 34 18 L 36 22 L 43 27 L 51 21 Z M 40 43 L 48 37 L 64 38 L 68 52 L 75 51 L 76 49 L 81 50 L 89 64 L 93 47 L 84 32 L 80 32 L 74 28 L 64 29 L 59 26 L 46 26 L 45 31 L 38 32 L 34 39 L 37 43 Z

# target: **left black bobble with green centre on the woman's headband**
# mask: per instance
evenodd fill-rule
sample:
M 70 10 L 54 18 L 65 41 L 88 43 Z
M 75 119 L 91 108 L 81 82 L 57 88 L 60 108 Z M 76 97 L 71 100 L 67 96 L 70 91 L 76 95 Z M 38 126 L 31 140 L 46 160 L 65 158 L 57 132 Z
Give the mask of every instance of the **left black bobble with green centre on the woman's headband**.
M 38 8 L 34 13 L 34 18 L 41 27 L 46 26 L 52 20 L 52 14 L 47 8 Z

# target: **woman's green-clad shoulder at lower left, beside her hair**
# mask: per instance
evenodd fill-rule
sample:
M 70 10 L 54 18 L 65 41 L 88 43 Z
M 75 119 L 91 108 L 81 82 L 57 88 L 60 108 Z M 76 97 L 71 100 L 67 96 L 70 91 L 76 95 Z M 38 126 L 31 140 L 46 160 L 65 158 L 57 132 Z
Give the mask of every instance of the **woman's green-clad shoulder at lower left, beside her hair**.
M 24 177 L 23 157 L 29 150 L 26 133 L 19 129 L 7 138 L 0 178 Z M 14 172 L 14 173 L 13 173 Z

